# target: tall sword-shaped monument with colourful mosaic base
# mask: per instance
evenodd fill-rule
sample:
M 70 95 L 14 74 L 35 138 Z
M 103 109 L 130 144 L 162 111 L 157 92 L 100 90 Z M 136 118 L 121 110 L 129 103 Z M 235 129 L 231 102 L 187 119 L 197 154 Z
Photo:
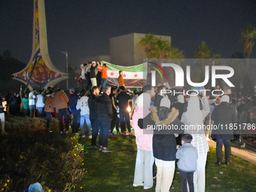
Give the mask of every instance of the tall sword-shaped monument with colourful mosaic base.
M 68 78 L 50 61 L 47 45 L 47 29 L 44 0 L 34 0 L 32 55 L 28 65 L 20 72 L 14 73 L 14 79 L 26 84 L 29 90 L 54 86 Z

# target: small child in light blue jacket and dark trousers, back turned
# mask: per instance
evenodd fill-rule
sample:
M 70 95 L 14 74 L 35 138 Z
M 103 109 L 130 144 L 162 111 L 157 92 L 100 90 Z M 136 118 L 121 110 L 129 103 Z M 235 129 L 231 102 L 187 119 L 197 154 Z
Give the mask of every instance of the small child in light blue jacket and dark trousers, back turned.
M 190 134 L 184 134 L 181 137 L 181 148 L 178 148 L 176 158 L 178 160 L 178 169 L 181 175 L 182 191 L 187 191 L 187 183 L 190 192 L 194 192 L 194 172 L 197 169 L 197 148 L 190 144 L 192 141 Z

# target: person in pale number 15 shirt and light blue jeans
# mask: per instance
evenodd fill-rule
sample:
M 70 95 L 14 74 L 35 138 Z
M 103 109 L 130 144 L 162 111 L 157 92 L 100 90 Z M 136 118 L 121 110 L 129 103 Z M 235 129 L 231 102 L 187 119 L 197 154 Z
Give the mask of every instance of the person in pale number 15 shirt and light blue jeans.
M 89 139 L 92 138 L 92 131 L 91 131 L 91 123 L 90 123 L 90 111 L 89 111 L 89 105 L 88 105 L 88 99 L 85 95 L 85 90 L 81 92 L 81 99 L 78 99 L 78 104 L 76 106 L 77 110 L 81 110 L 81 117 L 80 117 L 80 130 L 81 130 L 81 138 L 85 138 L 84 135 L 84 121 L 87 123 L 87 133 L 89 136 Z

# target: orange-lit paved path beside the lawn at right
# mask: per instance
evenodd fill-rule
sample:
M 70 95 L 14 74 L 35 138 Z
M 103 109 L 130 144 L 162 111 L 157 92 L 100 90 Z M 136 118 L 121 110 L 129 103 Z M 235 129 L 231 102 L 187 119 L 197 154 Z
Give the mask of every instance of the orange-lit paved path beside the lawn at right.
M 208 144 L 209 146 L 216 148 L 216 142 L 211 140 L 211 141 L 208 141 Z M 254 151 L 248 150 L 246 148 L 243 149 L 243 148 L 231 147 L 231 154 L 256 164 L 256 152 Z

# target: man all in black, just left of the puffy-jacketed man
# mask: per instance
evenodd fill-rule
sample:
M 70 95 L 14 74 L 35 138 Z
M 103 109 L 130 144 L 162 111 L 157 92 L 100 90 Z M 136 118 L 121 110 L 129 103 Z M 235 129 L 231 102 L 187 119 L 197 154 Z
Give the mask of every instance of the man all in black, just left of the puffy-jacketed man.
M 99 133 L 99 122 L 96 114 L 96 109 L 94 107 L 95 105 L 95 99 L 99 96 L 99 87 L 94 86 L 92 87 L 92 95 L 88 99 L 88 105 L 90 109 L 90 123 L 92 126 L 92 147 L 93 148 L 99 148 L 98 145 L 96 145 L 96 139 Z

